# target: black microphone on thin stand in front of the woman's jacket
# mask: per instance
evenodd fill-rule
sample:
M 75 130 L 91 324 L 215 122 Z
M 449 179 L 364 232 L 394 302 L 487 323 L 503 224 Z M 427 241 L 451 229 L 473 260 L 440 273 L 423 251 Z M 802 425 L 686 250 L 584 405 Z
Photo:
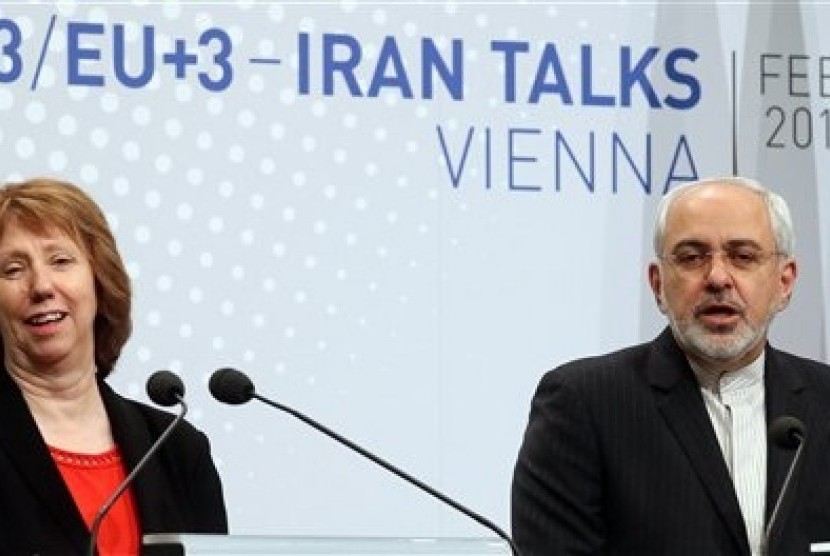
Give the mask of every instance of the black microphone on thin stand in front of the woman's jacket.
M 98 513 L 95 514 L 95 519 L 92 521 L 92 527 L 90 528 L 87 556 L 95 556 L 95 545 L 98 543 L 98 530 L 101 528 L 101 522 L 104 520 L 104 517 L 106 517 L 112 506 L 115 505 L 115 502 L 118 501 L 121 495 L 124 494 L 124 491 L 127 490 L 127 487 L 133 482 L 135 476 L 138 475 L 139 471 L 144 469 L 149 459 L 158 451 L 164 441 L 167 440 L 167 437 L 170 436 L 170 433 L 173 432 L 173 429 L 181 423 L 187 413 L 187 404 L 184 403 L 184 384 L 182 383 L 182 379 L 170 371 L 156 371 L 147 379 L 147 395 L 154 403 L 164 407 L 179 404 L 181 406 L 181 412 L 167 425 L 167 428 L 164 429 L 161 436 L 153 442 L 153 445 L 150 446 L 147 453 L 139 460 L 129 475 L 121 481 L 121 484 L 118 485 L 115 492 L 104 502 L 101 509 L 98 510 Z

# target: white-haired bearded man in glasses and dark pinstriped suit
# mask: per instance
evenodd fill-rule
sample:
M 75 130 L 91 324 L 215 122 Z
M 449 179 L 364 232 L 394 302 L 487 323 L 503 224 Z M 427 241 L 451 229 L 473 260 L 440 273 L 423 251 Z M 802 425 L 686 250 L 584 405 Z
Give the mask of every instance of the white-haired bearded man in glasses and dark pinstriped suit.
M 785 201 L 754 181 L 665 196 L 648 280 L 669 326 L 542 379 L 513 478 L 523 556 L 805 554 L 830 540 L 830 367 L 767 343 L 793 245 Z M 782 415 L 806 438 L 767 533 L 796 453 L 767 442 Z

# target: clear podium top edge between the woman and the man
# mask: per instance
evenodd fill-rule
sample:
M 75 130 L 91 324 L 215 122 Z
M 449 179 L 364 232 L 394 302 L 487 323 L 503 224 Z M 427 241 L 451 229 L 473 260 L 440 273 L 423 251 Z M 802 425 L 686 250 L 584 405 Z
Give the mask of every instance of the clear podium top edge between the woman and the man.
M 512 554 L 510 546 L 496 537 L 288 537 L 154 533 L 144 535 L 144 547 L 147 549 L 147 554 L 181 554 L 182 556 L 263 556 L 265 554 L 280 556 L 312 554 L 490 556 Z

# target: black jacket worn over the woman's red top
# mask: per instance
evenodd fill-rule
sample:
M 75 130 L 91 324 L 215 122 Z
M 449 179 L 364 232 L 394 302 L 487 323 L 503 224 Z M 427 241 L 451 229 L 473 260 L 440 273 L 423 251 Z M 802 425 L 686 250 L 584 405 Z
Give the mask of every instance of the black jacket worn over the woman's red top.
M 99 381 L 115 442 L 132 469 L 173 415 Z M 142 533 L 227 533 L 207 437 L 183 421 L 132 486 Z M 85 554 L 89 530 L 17 385 L 0 366 L 0 554 Z

